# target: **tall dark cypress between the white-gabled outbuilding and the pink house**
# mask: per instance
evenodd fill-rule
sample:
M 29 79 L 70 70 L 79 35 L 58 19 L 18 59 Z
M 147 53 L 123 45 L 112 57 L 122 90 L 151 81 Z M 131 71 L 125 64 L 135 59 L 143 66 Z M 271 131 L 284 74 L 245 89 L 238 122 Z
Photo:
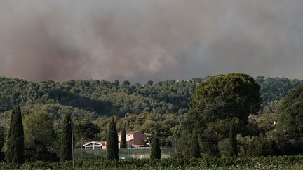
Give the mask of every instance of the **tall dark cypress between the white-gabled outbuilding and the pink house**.
M 116 132 L 116 122 L 112 118 L 112 122 L 109 124 L 109 131 L 107 134 L 107 158 L 119 160 L 119 148 L 118 148 L 118 134 Z

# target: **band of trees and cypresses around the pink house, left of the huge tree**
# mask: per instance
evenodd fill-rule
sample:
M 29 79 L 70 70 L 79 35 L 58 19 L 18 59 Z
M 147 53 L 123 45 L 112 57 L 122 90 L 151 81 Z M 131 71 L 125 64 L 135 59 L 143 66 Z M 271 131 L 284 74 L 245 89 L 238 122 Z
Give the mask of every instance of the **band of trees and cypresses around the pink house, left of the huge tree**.
M 166 139 L 171 134 L 172 129 L 169 127 L 174 125 L 172 119 L 177 118 L 174 115 L 164 117 L 155 113 L 140 115 L 141 122 L 137 121 L 139 117 L 133 115 L 124 120 L 113 117 L 110 121 L 98 119 L 92 122 L 87 118 L 72 119 L 70 115 L 65 115 L 59 121 L 54 121 L 50 120 L 47 113 L 34 112 L 22 118 L 21 112 L 18 106 L 15 107 L 11 113 L 8 129 L 0 127 L 0 160 L 12 167 L 18 167 L 24 162 L 72 160 L 72 143 L 76 144 L 76 148 L 83 148 L 83 141 L 100 140 L 100 136 L 104 133 L 102 140 L 107 141 L 107 158 L 119 160 L 118 133 L 124 132 L 124 148 L 126 148 L 126 127 L 133 127 L 130 126 L 133 122 L 137 123 L 135 127 L 142 132 L 152 133 L 152 136 L 145 139 L 145 143 L 149 143 L 152 150 L 154 148 L 154 157 L 152 154 L 151 159 L 160 159 L 161 143 L 157 135 L 161 132 L 162 139 Z M 146 121 L 147 119 L 150 121 Z M 116 122 L 119 122 L 119 129 L 116 128 Z M 168 125 L 164 125 L 164 122 Z M 103 123 L 106 124 L 106 129 L 102 129 Z M 147 125 L 149 127 L 146 127 Z M 162 144 L 165 145 L 166 143 Z

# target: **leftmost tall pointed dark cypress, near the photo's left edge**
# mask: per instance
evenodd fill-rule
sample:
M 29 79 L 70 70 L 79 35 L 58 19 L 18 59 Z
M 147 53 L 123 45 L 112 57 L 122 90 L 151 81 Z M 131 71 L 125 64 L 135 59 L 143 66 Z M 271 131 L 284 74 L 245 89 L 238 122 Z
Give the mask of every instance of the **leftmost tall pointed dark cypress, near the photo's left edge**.
M 6 161 L 8 164 L 23 164 L 25 162 L 25 146 L 22 116 L 19 106 L 14 108 L 11 113 L 11 123 L 6 142 L 8 146 Z

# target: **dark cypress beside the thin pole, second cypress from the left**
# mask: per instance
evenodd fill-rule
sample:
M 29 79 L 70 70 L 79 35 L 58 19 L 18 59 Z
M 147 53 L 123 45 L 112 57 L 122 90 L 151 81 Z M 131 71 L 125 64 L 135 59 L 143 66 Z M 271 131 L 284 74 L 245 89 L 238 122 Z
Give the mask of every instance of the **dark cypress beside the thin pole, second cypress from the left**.
M 72 128 L 70 115 L 62 120 L 62 133 L 60 136 L 60 161 L 72 160 Z

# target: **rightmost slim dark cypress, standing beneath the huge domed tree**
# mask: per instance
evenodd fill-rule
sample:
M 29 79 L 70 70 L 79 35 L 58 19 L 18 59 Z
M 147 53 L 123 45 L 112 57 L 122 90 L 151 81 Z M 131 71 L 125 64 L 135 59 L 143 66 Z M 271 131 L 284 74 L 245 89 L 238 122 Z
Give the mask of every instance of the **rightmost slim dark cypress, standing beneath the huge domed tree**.
M 233 118 L 231 120 L 231 124 L 230 124 L 230 128 L 229 128 L 229 156 L 231 156 L 231 157 L 238 156 L 235 118 Z

